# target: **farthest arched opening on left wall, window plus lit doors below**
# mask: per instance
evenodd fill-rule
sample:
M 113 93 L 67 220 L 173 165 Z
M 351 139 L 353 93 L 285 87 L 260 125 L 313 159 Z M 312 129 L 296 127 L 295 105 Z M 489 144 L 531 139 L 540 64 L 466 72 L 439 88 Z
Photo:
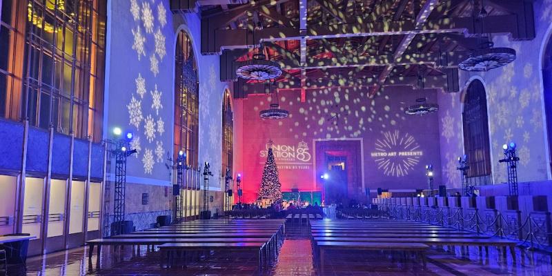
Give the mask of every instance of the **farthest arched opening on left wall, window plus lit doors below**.
M 232 112 L 232 98 L 230 97 L 230 91 L 224 90 L 224 96 L 222 99 L 222 148 L 221 148 L 221 172 L 222 177 L 226 177 L 226 171 L 233 171 L 234 161 L 234 113 Z M 231 184 L 231 183 L 230 183 Z M 224 210 L 230 210 L 233 202 L 233 193 L 228 190 L 232 190 L 232 186 L 228 185 L 224 188 L 226 195 L 224 196 Z

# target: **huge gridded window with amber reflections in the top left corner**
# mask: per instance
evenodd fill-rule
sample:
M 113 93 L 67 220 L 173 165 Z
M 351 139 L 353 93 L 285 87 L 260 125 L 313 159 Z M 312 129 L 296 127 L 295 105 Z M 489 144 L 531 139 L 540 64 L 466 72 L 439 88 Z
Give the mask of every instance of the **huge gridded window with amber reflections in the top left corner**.
M 5 0 L 1 28 L 0 115 L 99 141 L 106 0 Z

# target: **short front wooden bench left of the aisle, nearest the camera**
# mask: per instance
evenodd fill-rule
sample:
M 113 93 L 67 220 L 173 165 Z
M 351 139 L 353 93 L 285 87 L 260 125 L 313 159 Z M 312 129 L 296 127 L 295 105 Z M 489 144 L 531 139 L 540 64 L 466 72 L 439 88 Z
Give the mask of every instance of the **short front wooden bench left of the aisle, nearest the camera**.
M 264 245 L 263 243 L 258 242 L 221 242 L 221 243 L 201 243 L 201 242 L 190 242 L 190 243 L 168 243 L 161 244 L 159 249 L 161 254 L 166 254 L 166 264 L 167 268 L 171 267 L 174 264 L 174 260 L 178 253 L 186 253 L 188 251 L 197 251 L 197 250 L 217 250 L 217 251 L 253 251 L 257 253 L 259 270 L 262 270 L 264 264 L 268 267 L 268 257 L 264 256 Z M 185 254 L 181 254 L 182 257 L 185 257 Z M 182 258 L 186 264 L 185 258 Z M 161 264 L 163 266 L 163 264 Z

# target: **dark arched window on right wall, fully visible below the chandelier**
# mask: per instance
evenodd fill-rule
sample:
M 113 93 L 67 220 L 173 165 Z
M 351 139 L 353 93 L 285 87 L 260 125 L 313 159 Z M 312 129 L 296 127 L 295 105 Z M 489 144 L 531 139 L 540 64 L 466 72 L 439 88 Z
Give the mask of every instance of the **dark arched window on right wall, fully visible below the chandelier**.
M 485 88 L 479 80 L 472 81 L 464 98 L 464 152 L 468 155 L 470 185 L 491 184 L 491 150 L 489 118 Z

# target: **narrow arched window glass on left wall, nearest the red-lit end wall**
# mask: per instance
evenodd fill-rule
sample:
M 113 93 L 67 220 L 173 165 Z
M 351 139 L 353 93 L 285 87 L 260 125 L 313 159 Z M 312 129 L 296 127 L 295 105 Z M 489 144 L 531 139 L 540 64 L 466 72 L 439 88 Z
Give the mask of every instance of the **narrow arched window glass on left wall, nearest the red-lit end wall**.
M 234 160 L 234 115 L 230 101 L 232 101 L 230 91 L 226 90 L 222 101 L 222 177 L 225 177 L 226 169 L 232 172 Z

